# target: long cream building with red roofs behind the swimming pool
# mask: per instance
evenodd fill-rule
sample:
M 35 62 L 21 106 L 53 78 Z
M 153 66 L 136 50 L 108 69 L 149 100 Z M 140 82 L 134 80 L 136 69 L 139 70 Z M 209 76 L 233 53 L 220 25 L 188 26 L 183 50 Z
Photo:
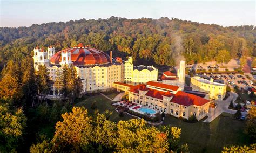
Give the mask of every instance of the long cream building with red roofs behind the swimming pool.
M 128 92 L 129 100 L 133 103 L 185 119 L 192 115 L 196 116 L 197 120 L 203 119 L 208 114 L 211 102 L 200 96 L 185 93 L 179 86 L 154 81 L 130 87 Z

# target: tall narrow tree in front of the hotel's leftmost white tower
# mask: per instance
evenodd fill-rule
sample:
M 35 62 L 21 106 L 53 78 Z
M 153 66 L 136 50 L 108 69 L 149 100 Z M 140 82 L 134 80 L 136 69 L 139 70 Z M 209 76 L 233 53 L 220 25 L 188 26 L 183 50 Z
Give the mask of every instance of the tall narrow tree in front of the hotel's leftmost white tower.
M 41 102 L 44 99 L 46 106 L 48 105 L 46 95 L 48 95 L 50 92 L 50 79 L 48 75 L 49 72 L 47 71 L 46 67 L 44 65 L 39 65 L 38 72 L 36 73 L 36 81 L 38 85 L 38 92 L 41 95 Z

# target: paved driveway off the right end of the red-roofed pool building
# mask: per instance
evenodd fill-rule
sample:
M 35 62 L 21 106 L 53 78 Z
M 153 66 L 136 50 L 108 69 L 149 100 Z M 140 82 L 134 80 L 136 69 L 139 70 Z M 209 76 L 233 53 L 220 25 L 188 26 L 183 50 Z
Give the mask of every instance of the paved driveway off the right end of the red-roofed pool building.
M 234 102 L 235 99 L 237 99 L 237 97 L 238 97 L 238 94 L 231 91 L 230 96 L 226 100 L 216 100 L 215 102 L 217 103 L 217 107 L 216 108 L 210 107 L 208 118 L 203 122 L 211 122 L 223 112 L 230 113 L 230 114 L 234 114 L 235 112 L 237 112 L 237 110 L 228 109 L 228 106 L 230 105 L 230 101 L 233 100 Z

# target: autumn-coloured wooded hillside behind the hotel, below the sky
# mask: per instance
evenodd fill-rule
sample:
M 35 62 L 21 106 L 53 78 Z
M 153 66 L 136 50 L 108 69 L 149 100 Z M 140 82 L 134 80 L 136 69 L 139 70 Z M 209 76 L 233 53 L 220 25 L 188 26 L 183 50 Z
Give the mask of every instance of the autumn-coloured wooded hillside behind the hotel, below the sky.
M 90 45 L 113 56 L 133 56 L 136 64 L 174 66 L 176 61 L 205 62 L 218 54 L 231 58 L 256 56 L 253 25 L 223 27 L 177 18 L 80 19 L 33 24 L 30 27 L 0 27 L 0 61 L 18 61 L 31 56 L 36 46 L 53 45 L 56 51 Z

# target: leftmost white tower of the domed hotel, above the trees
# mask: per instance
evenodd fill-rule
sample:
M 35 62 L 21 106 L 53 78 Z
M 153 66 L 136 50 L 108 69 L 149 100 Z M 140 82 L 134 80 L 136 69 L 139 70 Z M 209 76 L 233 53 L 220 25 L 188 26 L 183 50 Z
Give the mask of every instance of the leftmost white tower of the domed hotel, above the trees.
M 49 66 L 48 52 L 44 51 L 42 48 L 34 48 L 33 59 L 35 71 L 38 71 L 38 65 L 45 65 L 46 67 Z

